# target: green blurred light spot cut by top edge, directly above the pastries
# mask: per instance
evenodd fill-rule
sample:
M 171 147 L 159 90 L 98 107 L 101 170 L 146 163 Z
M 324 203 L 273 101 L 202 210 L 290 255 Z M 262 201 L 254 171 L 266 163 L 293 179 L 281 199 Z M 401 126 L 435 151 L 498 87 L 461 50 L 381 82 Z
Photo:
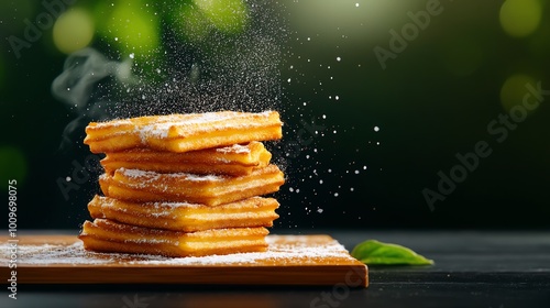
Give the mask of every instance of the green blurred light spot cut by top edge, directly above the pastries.
M 249 22 L 249 10 L 242 0 L 195 0 L 195 3 L 220 31 L 239 33 Z

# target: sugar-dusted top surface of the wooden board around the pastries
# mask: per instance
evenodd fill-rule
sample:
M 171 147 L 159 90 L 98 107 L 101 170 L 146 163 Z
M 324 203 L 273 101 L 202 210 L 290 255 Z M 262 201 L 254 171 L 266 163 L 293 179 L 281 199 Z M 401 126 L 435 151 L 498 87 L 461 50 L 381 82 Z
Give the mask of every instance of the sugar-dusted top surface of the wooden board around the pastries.
M 285 239 L 284 241 L 282 239 Z M 314 264 L 320 260 L 350 261 L 351 257 L 338 241 L 310 242 L 304 235 L 268 235 L 266 252 L 209 255 L 200 257 L 165 257 L 160 255 L 135 255 L 121 253 L 97 253 L 84 249 L 80 241 L 70 244 L 42 244 L 18 246 L 20 265 L 51 264 L 132 264 L 132 265 L 227 265 L 227 264 Z M 0 244 L 0 260 L 9 258 L 9 246 Z

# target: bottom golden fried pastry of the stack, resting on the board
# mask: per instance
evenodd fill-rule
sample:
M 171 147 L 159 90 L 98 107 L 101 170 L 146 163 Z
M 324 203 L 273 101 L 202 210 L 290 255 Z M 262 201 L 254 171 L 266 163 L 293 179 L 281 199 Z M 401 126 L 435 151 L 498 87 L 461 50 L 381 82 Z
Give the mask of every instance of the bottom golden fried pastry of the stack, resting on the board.
M 263 227 L 179 232 L 95 219 L 84 223 L 78 238 L 86 250 L 97 252 L 202 256 L 266 251 L 267 233 Z

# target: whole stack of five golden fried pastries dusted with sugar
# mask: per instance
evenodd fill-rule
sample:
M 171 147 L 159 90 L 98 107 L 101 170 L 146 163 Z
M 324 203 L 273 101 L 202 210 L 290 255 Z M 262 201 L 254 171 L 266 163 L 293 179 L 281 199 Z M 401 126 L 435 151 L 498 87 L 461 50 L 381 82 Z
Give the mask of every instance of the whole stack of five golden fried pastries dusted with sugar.
M 152 116 L 86 128 L 105 153 L 103 196 L 79 235 L 87 250 L 200 256 L 265 251 L 284 183 L 263 141 L 282 138 L 276 111 Z

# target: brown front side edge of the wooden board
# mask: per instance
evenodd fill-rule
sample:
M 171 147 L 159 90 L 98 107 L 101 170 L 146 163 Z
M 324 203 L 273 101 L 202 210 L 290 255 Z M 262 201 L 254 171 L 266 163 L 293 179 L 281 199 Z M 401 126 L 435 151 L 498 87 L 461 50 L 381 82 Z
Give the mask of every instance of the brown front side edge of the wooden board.
M 301 285 L 367 287 L 365 265 L 224 266 L 217 267 L 43 267 L 18 268 L 18 284 L 183 284 L 183 285 Z M 10 268 L 2 267 L 7 276 Z

